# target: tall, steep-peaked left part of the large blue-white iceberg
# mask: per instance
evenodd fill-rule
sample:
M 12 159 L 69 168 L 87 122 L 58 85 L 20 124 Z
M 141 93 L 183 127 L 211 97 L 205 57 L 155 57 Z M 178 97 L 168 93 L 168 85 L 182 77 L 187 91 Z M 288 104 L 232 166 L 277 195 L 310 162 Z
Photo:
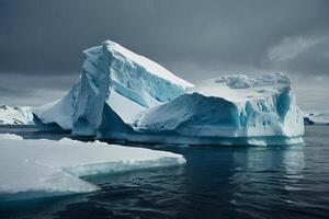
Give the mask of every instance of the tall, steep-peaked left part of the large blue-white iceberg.
M 94 136 L 102 124 L 110 129 L 116 129 L 116 122 L 132 124 L 144 110 L 167 103 L 192 87 L 160 65 L 110 41 L 83 55 L 83 72 L 68 94 L 34 110 L 43 123 L 56 123 L 76 135 Z

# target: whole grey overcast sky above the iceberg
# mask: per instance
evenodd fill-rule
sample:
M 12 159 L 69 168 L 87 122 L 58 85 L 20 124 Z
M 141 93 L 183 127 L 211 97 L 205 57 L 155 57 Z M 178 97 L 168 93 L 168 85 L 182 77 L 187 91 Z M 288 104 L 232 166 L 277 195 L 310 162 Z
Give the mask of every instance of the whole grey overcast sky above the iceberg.
M 194 83 L 288 72 L 303 110 L 329 112 L 328 0 L 0 0 L 0 104 L 63 96 L 105 39 Z

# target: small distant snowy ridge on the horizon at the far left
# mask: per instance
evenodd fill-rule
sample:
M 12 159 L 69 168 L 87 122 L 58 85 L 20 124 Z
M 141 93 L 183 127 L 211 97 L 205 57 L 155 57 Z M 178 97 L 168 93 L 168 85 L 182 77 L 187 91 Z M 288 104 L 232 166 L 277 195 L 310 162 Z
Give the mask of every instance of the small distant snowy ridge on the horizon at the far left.
M 32 108 L 29 106 L 0 106 L 0 125 L 33 125 Z

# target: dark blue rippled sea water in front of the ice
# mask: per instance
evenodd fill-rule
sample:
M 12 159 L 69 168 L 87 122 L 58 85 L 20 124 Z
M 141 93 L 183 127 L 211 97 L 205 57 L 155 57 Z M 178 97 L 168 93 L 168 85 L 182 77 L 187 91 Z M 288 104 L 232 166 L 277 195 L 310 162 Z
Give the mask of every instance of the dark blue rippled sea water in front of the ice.
M 182 168 L 89 178 L 92 194 L 10 203 L 0 218 L 329 218 L 329 126 L 306 146 L 157 147 Z

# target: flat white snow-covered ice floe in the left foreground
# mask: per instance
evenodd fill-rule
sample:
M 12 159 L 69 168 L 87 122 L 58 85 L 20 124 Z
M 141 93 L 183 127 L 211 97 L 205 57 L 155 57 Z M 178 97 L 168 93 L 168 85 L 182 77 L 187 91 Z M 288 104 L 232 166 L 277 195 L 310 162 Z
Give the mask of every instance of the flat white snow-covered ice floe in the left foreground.
M 97 185 L 79 176 L 185 163 L 175 153 L 70 139 L 23 140 L 0 135 L 0 200 L 88 193 Z

